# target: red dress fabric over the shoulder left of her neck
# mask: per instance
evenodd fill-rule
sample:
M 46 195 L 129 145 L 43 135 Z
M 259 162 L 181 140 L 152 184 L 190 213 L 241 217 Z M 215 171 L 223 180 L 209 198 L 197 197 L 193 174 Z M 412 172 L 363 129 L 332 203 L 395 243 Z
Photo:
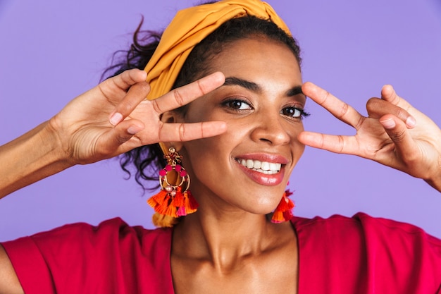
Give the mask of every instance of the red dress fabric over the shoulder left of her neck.
M 143 287 L 168 287 L 161 281 L 170 276 L 171 235 L 171 229 L 149 230 L 116 218 L 97 226 L 72 223 L 2 245 L 23 288 L 38 285 L 39 290 L 30 293 L 52 293 L 48 289 L 54 284 L 63 289 L 59 293 L 97 287 L 106 289 L 100 293 L 113 293 L 108 281 L 123 283 L 130 288 L 126 293 L 137 293 Z

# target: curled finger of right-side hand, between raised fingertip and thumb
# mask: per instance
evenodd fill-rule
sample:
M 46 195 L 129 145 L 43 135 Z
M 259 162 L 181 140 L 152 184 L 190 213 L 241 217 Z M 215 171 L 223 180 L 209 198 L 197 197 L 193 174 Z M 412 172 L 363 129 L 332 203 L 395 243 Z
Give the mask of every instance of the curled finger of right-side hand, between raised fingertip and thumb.
M 366 109 L 371 118 L 380 118 L 386 114 L 392 114 L 406 123 L 407 128 L 414 128 L 416 126 L 414 116 L 411 116 L 406 110 L 386 100 L 371 98 L 366 103 Z

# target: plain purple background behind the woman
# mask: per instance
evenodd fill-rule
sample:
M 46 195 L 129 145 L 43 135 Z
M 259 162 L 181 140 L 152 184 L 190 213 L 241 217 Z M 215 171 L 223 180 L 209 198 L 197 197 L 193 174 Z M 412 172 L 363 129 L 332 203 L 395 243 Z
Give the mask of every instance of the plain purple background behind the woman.
M 0 0 L 0 144 L 56 114 L 97 84 L 125 49 L 140 16 L 161 29 L 186 1 Z M 441 125 L 441 6 L 435 0 L 272 0 L 299 39 L 304 80 L 365 114 L 391 83 Z M 308 130 L 352 134 L 314 105 Z M 1 164 L 1 162 L 0 162 Z M 151 209 L 118 161 L 75 166 L 0 200 L 0 240 L 121 216 L 151 227 Z M 1 180 L 1 179 L 0 179 Z M 363 211 L 421 226 L 441 238 L 441 195 L 423 180 L 373 161 L 307 148 L 291 178 L 299 216 Z

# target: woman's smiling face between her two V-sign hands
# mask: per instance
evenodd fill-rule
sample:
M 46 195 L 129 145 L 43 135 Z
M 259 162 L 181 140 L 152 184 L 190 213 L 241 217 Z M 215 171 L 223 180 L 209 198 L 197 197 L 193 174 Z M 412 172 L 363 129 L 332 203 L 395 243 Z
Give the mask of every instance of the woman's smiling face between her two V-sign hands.
M 201 208 L 267 214 L 304 151 L 299 64 L 285 44 L 261 38 L 228 44 L 210 66 L 225 84 L 192 102 L 183 120 L 225 121 L 228 130 L 182 143 L 190 190 Z

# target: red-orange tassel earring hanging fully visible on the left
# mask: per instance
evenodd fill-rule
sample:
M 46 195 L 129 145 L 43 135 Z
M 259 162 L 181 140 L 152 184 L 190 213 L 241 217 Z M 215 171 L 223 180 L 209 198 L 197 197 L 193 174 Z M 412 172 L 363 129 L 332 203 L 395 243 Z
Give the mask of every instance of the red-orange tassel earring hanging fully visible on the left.
M 166 167 L 159 171 L 161 191 L 150 197 L 147 203 L 163 216 L 178 218 L 196 212 L 199 204 L 188 190 L 190 176 L 180 165 L 182 156 L 170 147 L 164 159 L 167 160 Z

